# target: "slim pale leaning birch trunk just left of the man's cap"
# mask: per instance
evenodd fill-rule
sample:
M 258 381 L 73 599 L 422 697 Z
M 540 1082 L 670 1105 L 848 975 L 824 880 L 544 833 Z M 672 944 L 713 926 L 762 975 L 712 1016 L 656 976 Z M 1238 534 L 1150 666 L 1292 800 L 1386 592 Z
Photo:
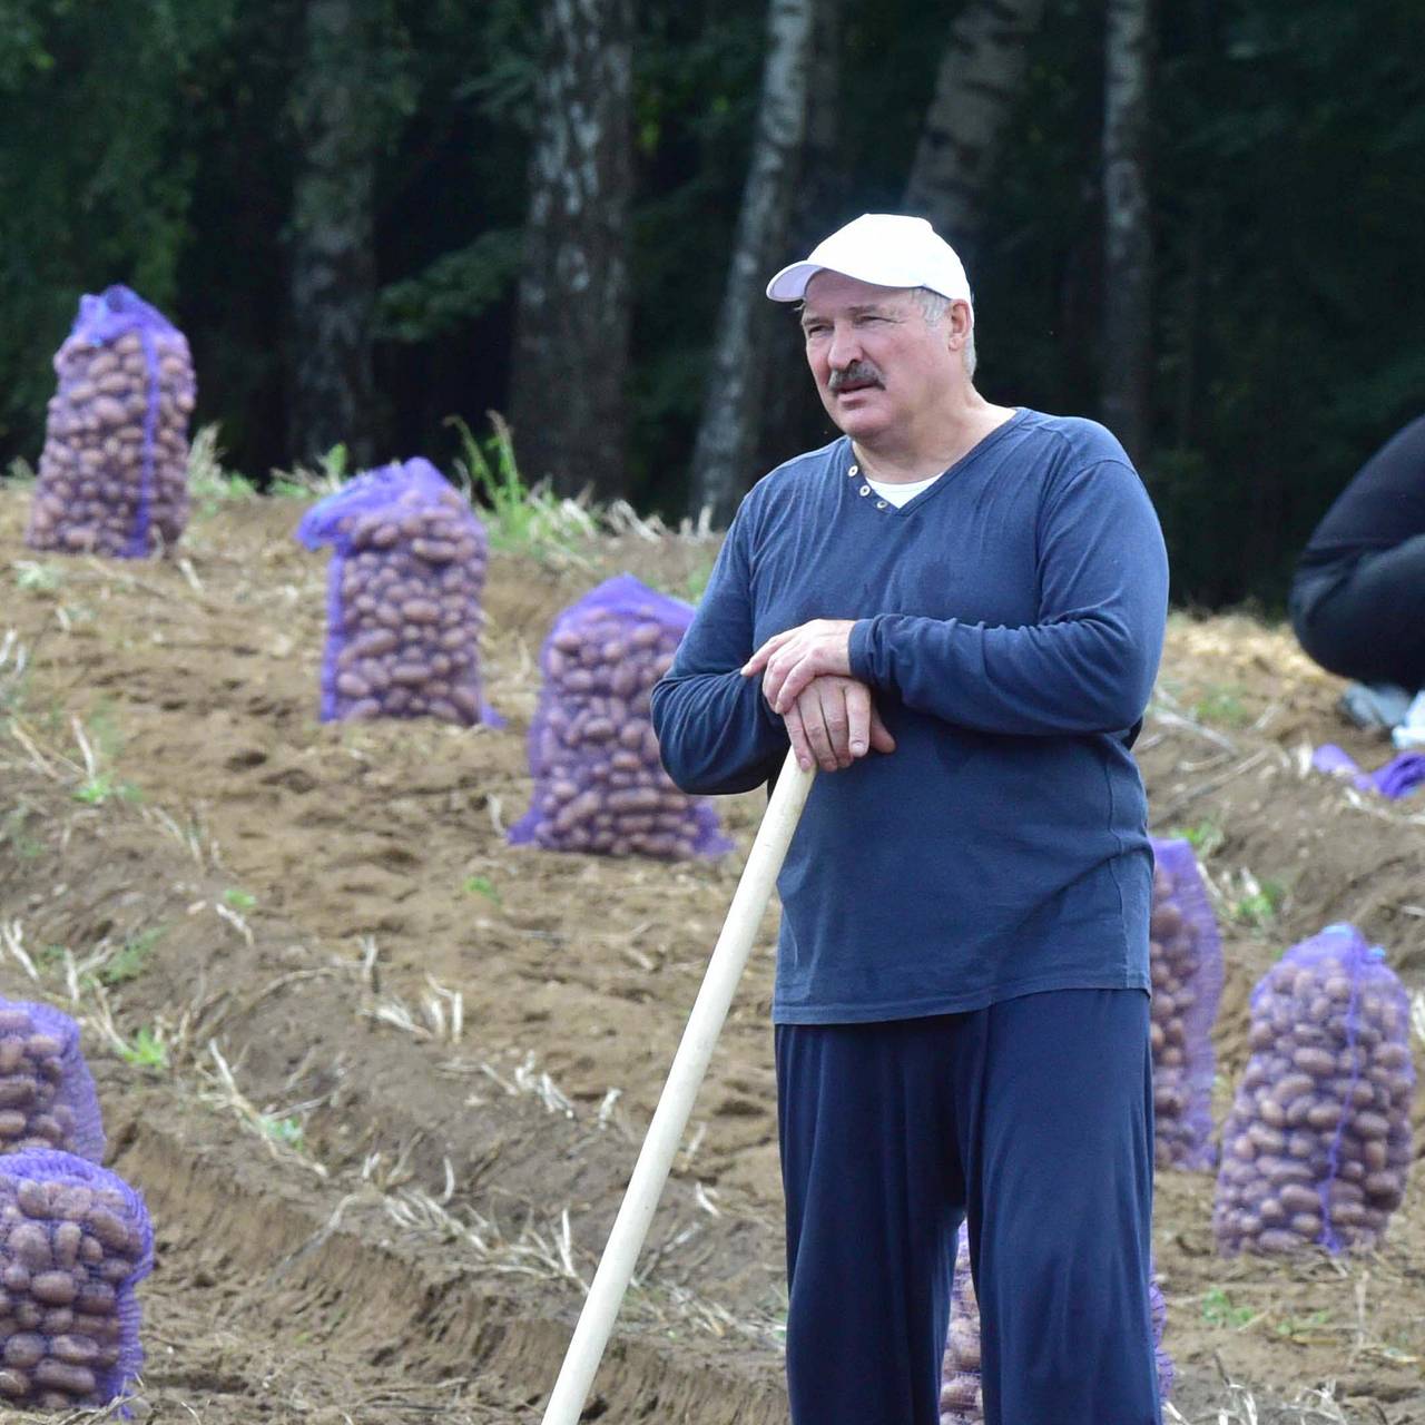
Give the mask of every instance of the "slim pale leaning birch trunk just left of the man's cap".
M 807 134 L 815 9 L 815 0 L 771 0 L 767 14 L 767 61 L 752 158 L 693 447 L 690 514 L 698 519 L 708 510 L 718 526 L 731 520 L 751 484 L 750 466 L 765 402 L 770 322 L 775 315 L 764 288 L 788 261 L 787 225 Z

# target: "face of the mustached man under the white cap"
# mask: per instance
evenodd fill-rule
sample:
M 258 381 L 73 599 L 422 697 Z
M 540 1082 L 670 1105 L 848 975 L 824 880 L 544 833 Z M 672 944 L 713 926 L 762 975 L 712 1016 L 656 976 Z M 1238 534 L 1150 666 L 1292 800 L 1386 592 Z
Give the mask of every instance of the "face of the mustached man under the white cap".
M 905 288 L 818 272 L 801 314 L 807 362 L 831 419 L 852 439 L 875 440 L 936 409 L 963 376 L 949 345 L 950 314 L 928 326 Z

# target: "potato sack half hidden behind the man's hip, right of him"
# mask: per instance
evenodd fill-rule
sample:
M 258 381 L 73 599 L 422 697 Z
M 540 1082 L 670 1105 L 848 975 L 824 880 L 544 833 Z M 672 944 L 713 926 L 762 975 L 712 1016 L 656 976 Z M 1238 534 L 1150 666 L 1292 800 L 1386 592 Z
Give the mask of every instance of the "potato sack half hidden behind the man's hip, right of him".
M 1153 859 L 1154 1157 L 1159 1167 L 1210 1168 L 1223 942 L 1191 842 L 1154 839 Z

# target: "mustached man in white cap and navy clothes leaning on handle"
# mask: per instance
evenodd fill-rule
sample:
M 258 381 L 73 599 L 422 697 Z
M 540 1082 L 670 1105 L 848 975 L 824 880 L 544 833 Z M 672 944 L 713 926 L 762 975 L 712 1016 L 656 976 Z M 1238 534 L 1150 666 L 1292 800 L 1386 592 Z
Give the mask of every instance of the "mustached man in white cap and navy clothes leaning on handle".
M 1167 563 L 1102 426 L 975 389 L 959 258 L 866 214 L 767 288 L 842 435 L 742 502 L 673 668 L 691 792 L 812 788 L 772 1019 L 795 1425 L 938 1425 L 968 1218 L 988 1425 L 1157 1425 L 1153 858 Z

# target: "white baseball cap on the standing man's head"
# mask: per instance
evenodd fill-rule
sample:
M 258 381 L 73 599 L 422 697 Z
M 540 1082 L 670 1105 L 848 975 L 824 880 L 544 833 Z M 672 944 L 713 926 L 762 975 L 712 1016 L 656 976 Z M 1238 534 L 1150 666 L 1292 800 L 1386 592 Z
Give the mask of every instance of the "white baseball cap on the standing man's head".
M 784 266 L 767 284 L 767 295 L 774 302 L 799 302 L 807 284 L 826 271 L 876 286 L 928 286 L 942 296 L 972 301 L 955 248 L 925 218 L 899 212 L 864 212 L 838 228 L 805 261 Z

